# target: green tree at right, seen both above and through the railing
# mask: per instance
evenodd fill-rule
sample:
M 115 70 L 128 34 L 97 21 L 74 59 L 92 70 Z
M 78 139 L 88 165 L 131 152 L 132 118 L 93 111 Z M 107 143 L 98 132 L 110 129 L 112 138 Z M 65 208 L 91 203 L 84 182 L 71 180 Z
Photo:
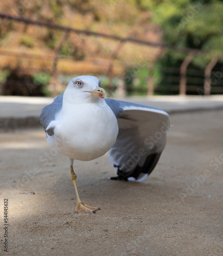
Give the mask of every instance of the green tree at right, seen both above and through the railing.
M 150 0 L 139 0 L 138 2 L 142 8 L 153 10 L 153 22 L 161 25 L 165 44 L 200 49 L 210 53 L 197 54 L 188 68 L 204 70 L 213 55 L 221 57 L 216 66 L 222 66 L 220 63 L 223 62 L 223 1 L 160 0 L 152 3 Z M 179 76 L 180 71 L 166 74 L 163 67 L 179 68 L 186 56 L 187 54 L 171 50 L 159 60 L 157 67 L 161 79 L 158 85 L 165 84 L 168 89 L 171 85 L 179 84 L 179 80 L 176 78 L 174 80 L 174 76 Z

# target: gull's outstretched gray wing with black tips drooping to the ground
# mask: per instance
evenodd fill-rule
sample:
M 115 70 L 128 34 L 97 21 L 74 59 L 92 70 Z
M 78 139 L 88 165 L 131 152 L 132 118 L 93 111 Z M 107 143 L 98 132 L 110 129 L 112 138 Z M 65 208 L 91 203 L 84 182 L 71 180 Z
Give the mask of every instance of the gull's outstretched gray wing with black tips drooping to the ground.
M 118 118 L 119 134 L 109 150 L 117 177 L 142 181 L 157 164 L 166 145 L 169 115 L 162 110 L 130 102 L 106 99 Z

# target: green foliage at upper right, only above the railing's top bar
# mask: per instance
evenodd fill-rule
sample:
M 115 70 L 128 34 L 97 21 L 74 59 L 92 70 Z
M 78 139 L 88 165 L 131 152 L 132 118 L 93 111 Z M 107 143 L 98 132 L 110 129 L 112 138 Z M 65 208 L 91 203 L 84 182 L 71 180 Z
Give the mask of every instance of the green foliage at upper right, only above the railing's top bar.
M 223 53 L 222 1 L 160 2 L 153 22 L 162 26 L 166 44 Z

